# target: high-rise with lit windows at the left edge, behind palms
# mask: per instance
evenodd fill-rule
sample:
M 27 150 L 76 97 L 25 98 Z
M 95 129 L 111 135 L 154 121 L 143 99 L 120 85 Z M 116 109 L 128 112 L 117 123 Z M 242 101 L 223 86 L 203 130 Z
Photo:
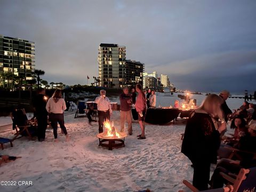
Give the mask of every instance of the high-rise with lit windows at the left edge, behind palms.
M 0 73 L 11 72 L 31 80 L 35 70 L 35 43 L 0 35 Z

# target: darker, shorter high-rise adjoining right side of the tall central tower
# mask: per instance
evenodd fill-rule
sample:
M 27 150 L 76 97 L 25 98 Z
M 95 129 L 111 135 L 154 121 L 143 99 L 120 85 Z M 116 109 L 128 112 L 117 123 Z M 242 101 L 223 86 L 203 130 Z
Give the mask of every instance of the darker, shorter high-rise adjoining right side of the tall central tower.
M 144 63 L 140 61 L 125 61 L 125 86 L 135 86 L 137 83 L 143 84 Z

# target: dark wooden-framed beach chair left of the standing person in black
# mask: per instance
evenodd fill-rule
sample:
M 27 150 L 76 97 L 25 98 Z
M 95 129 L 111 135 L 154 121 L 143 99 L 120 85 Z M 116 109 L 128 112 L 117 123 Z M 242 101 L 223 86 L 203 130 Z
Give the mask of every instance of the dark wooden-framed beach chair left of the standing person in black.
M 24 109 L 17 109 L 12 113 L 13 129 L 16 130 L 15 137 L 12 139 L 18 139 L 23 136 L 27 136 L 30 139 L 36 136 L 36 125 L 30 125 Z

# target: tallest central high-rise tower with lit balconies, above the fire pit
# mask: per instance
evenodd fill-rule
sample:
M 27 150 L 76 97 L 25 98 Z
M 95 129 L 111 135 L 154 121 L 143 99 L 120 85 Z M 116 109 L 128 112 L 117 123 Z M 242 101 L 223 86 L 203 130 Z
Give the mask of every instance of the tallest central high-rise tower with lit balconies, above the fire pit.
M 100 86 L 120 88 L 125 85 L 125 46 L 101 43 L 98 49 Z

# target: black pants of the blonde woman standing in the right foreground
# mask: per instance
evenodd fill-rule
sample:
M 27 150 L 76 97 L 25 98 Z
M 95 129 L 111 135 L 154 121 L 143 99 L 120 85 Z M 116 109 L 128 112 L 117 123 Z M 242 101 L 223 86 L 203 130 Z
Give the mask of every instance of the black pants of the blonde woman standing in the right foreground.
M 198 190 L 208 189 L 211 163 L 205 160 L 192 162 L 194 166 L 193 186 Z

